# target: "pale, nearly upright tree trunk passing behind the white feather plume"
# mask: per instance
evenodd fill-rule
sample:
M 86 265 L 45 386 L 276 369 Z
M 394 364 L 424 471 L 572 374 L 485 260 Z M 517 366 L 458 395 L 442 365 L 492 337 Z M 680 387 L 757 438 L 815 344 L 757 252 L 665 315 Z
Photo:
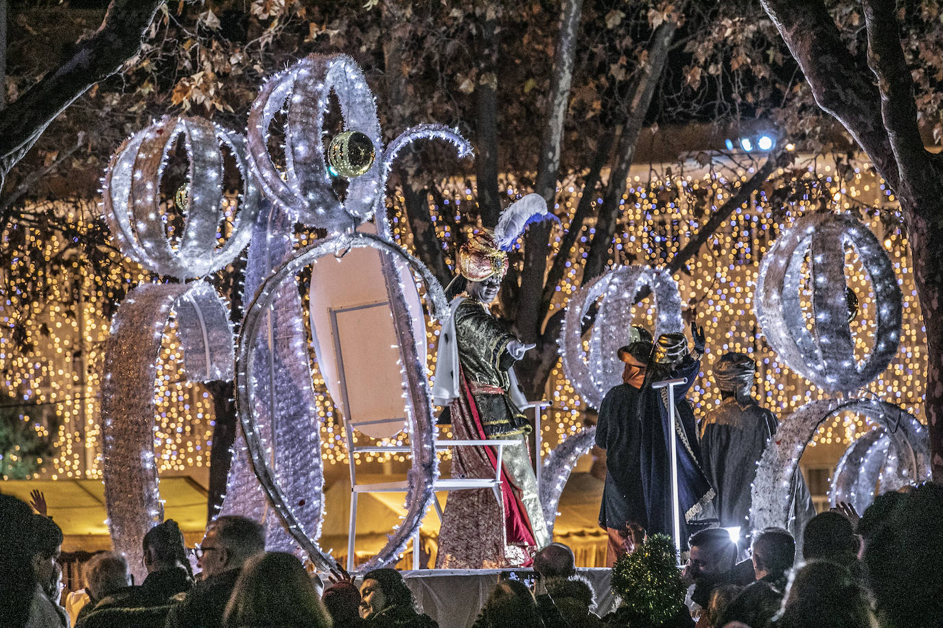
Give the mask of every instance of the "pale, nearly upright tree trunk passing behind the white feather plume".
M 573 78 L 573 56 L 579 35 L 583 0 L 564 0 L 560 33 L 554 49 L 554 74 L 547 94 L 547 124 L 540 138 L 535 191 L 554 211 L 556 179 L 560 172 L 560 147 L 563 143 L 563 124 L 567 120 L 570 88 Z M 534 342 L 540 334 L 540 324 L 547 309 L 543 307 L 544 274 L 550 256 L 550 222 L 531 226 L 525 237 L 524 267 L 521 272 L 521 298 L 515 328 L 525 342 Z M 561 251 L 561 254 L 566 254 Z

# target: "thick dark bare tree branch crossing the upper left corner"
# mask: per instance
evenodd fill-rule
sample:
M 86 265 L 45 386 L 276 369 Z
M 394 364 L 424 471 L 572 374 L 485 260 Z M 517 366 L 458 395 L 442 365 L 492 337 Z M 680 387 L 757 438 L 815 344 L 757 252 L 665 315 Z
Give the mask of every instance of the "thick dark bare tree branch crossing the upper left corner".
M 112 0 L 101 26 L 73 56 L 0 113 L 0 162 L 8 172 L 42 132 L 92 85 L 121 70 L 141 50 L 141 40 L 164 0 Z

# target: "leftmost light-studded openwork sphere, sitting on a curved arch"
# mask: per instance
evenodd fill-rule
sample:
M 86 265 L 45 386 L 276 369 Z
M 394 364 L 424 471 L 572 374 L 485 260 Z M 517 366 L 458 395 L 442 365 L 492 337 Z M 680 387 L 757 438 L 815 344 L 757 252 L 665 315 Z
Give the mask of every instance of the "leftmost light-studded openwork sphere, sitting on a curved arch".
M 182 136 L 190 161 L 184 228 L 174 249 L 161 218 L 160 181 L 174 139 Z M 233 233 L 220 246 L 223 222 L 223 150 L 242 178 Z M 245 162 L 245 139 L 202 118 L 164 116 L 124 141 L 111 157 L 102 196 L 111 233 L 125 255 L 159 275 L 180 280 L 205 277 L 226 266 L 248 244 L 259 193 Z

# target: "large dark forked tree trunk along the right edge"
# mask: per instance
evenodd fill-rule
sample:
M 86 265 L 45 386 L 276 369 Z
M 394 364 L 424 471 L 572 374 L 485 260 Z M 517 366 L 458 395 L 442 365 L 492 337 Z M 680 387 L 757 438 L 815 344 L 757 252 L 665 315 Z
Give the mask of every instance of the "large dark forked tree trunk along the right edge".
M 901 48 L 896 3 L 863 0 L 868 64 L 862 72 L 825 4 L 762 0 L 802 68 L 816 102 L 868 153 L 901 204 L 927 334 L 924 411 L 934 478 L 943 481 L 943 162 L 918 131 L 914 86 Z M 875 80 L 875 78 L 877 80 Z

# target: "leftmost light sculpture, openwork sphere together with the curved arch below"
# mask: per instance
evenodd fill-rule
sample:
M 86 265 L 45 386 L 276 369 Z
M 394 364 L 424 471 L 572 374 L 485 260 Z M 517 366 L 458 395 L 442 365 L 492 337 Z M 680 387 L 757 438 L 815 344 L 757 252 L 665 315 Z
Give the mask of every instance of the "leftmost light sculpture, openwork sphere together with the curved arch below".
M 161 177 L 174 139 L 182 136 L 189 160 L 184 229 L 174 248 L 167 238 Z M 221 245 L 223 145 L 242 178 L 239 213 Z M 104 212 L 122 252 L 158 275 L 200 278 L 231 262 L 249 240 L 258 193 L 242 159 L 244 140 L 196 118 L 164 117 L 127 139 L 103 181 Z M 178 194 L 174 194 L 178 196 Z M 143 283 L 131 290 L 112 321 L 102 387 L 103 475 L 115 550 L 141 572 L 141 540 L 163 518 L 154 455 L 157 355 L 174 311 L 188 380 L 233 378 L 229 307 L 206 282 Z

